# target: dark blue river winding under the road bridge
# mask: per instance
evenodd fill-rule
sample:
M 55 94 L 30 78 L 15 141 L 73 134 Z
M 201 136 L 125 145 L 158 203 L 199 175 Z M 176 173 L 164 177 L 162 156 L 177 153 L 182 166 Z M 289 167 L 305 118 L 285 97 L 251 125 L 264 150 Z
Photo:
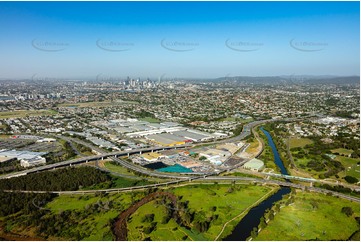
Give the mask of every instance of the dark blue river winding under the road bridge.
M 277 151 L 276 145 L 273 142 L 272 136 L 261 127 L 261 131 L 266 135 L 268 144 L 270 145 L 274 160 L 276 165 L 280 168 L 281 173 L 288 175 L 286 168 L 283 165 L 283 162 L 280 158 L 280 155 Z M 257 227 L 261 217 L 264 215 L 267 209 L 271 209 L 273 204 L 282 199 L 283 195 L 286 195 L 291 192 L 289 187 L 281 187 L 275 194 L 261 202 L 256 207 L 252 208 L 247 215 L 236 225 L 232 233 L 228 235 L 223 240 L 226 241 L 244 241 L 250 235 L 254 227 Z

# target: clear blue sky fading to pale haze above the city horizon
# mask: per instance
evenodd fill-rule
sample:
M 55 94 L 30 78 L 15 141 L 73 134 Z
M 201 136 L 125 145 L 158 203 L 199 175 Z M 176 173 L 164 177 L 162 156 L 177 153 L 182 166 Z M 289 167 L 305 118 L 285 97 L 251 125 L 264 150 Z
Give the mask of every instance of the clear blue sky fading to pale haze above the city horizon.
M 0 2 L 0 79 L 359 75 L 359 2 Z

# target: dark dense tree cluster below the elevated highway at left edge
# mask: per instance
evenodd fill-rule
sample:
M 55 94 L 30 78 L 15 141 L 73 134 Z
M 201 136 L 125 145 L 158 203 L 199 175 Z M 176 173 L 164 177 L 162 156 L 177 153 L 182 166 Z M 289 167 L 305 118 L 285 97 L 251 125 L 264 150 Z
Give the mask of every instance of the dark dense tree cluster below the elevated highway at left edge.
M 66 191 L 111 181 L 111 177 L 92 167 L 65 168 L 2 180 L 2 190 Z

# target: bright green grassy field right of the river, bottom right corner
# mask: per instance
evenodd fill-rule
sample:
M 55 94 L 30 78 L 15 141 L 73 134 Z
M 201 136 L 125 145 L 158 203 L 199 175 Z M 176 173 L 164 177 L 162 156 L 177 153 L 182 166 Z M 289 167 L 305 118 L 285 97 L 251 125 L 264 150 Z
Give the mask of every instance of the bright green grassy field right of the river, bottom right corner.
M 341 213 L 342 207 L 346 206 L 354 211 L 350 217 Z M 359 230 L 355 219 L 359 216 L 359 203 L 323 194 L 297 192 L 295 202 L 281 208 L 255 240 L 347 240 Z

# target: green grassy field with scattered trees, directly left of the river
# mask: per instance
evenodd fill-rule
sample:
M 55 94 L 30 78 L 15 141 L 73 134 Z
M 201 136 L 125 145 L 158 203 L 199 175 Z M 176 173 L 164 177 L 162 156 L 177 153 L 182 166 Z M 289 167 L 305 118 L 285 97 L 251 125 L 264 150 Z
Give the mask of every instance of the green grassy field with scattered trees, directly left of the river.
M 168 223 L 162 224 L 161 219 L 166 213 L 166 208 L 155 201 L 140 207 L 136 213 L 131 216 L 131 222 L 128 224 L 128 239 L 143 240 L 214 240 L 221 232 L 223 225 L 234 217 L 242 214 L 251 207 L 255 206 L 260 198 L 265 198 L 274 190 L 271 187 L 253 186 L 236 184 L 232 192 L 229 192 L 231 184 L 202 184 L 188 185 L 170 189 L 172 193 L 181 197 L 180 202 L 188 201 L 188 208 L 195 211 L 195 220 L 201 221 L 210 216 L 218 216 L 210 223 L 208 231 L 199 233 L 193 228 L 186 229 L 180 227 L 170 219 Z M 206 198 L 206 199 L 205 199 Z M 263 200 L 261 199 L 261 200 Z M 150 233 L 144 233 L 144 228 L 150 226 L 150 222 L 142 222 L 145 214 L 154 214 L 156 222 L 155 229 Z M 245 216 L 243 213 L 234 221 L 230 222 L 222 233 L 222 237 L 227 236 L 235 225 Z

